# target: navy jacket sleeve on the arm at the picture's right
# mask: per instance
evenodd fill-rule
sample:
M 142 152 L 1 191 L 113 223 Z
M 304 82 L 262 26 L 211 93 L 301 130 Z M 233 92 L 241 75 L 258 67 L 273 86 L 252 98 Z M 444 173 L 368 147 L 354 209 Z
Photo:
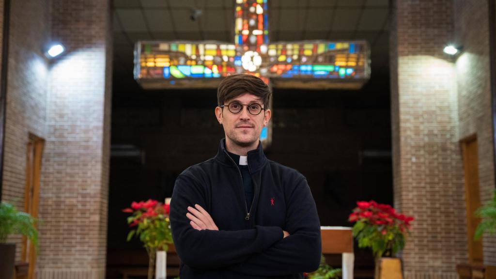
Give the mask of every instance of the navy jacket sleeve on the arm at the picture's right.
M 243 263 L 230 266 L 230 270 L 251 276 L 284 276 L 317 270 L 322 253 L 320 222 L 305 177 L 286 197 L 283 229 L 290 235 Z

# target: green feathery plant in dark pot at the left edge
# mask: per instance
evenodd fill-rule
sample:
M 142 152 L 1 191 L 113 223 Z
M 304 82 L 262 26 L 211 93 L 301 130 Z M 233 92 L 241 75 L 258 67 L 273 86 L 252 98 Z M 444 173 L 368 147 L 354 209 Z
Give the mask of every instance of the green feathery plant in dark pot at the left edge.
M 28 213 L 18 211 L 9 203 L 0 203 L 0 278 L 12 278 L 14 270 L 15 244 L 6 243 L 9 235 L 25 235 L 38 252 L 36 223 Z

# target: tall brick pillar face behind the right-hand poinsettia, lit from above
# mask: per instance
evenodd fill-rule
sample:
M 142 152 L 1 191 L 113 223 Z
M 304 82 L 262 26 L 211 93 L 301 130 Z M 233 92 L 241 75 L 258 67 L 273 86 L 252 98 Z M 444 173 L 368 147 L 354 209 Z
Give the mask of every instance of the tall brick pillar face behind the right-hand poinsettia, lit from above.
M 395 206 L 415 216 L 405 278 L 457 279 L 467 262 L 452 0 L 392 1 L 391 119 Z

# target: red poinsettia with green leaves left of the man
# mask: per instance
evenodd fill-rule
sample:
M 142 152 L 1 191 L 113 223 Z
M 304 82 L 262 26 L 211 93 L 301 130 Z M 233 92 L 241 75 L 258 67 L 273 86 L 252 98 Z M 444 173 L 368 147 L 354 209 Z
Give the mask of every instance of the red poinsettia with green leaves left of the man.
M 172 243 L 169 205 L 155 200 L 132 202 L 131 207 L 123 211 L 132 213 L 127 217 L 129 227 L 133 228 L 127 234 L 127 241 L 133 236 L 139 237 L 149 254 L 157 250 L 167 251 L 168 244 Z

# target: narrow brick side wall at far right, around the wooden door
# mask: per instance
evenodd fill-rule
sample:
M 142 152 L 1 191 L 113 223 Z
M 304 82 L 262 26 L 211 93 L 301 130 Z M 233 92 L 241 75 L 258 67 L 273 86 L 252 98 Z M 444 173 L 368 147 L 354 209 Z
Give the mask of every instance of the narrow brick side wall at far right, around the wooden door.
M 487 0 L 455 0 L 456 42 L 463 46 L 456 60 L 459 139 L 477 135 L 481 202 L 495 189 L 494 145 L 489 65 L 489 13 Z M 496 237 L 484 236 L 484 262 L 496 266 Z

